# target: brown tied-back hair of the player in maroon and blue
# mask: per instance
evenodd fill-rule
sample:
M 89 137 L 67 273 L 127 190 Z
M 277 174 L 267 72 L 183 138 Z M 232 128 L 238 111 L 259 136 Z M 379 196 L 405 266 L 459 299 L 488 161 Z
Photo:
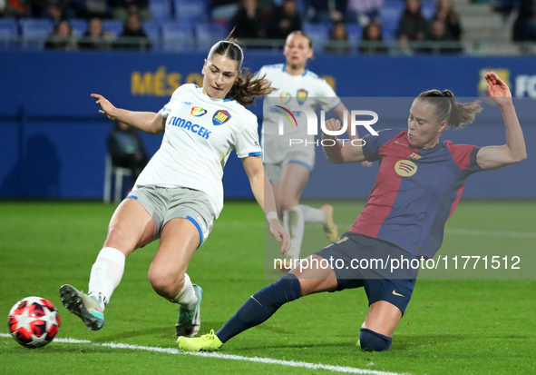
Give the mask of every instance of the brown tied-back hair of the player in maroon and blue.
M 435 114 L 439 122 L 447 121 L 447 127 L 460 128 L 466 123 L 473 123 L 476 113 L 482 112 L 480 100 L 458 103 L 450 90 L 429 90 L 419 94 L 417 99 L 435 105 Z

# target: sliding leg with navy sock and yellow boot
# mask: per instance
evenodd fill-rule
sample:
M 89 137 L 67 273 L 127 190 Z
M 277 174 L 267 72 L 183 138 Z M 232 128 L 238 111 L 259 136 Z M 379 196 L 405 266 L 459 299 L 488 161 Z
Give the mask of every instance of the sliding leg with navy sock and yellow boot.
M 313 257 L 321 259 L 318 255 L 311 255 L 307 259 Z M 311 266 L 304 270 L 297 268 L 253 294 L 218 332 L 210 331 L 200 338 L 180 337 L 177 340 L 180 348 L 187 351 L 219 350 L 227 340 L 240 332 L 267 321 L 283 304 L 307 294 L 335 290 L 337 281 L 333 269 L 317 270 L 312 268 L 314 262 L 307 264 Z

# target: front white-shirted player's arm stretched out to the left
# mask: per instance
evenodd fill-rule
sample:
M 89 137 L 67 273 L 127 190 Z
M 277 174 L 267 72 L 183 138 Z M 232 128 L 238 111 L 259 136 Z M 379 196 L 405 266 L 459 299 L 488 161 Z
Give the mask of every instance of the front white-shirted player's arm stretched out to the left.
M 141 132 L 150 134 L 160 134 L 165 130 L 166 119 L 161 116 L 161 111 L 159 113 L 129 111 L 116 108 L 100 94 L 92 94 L 92 97 L 97 99 L 97 104 L 101 106 L 99 113 L 104 114 L 110 120 L 126 123 Z

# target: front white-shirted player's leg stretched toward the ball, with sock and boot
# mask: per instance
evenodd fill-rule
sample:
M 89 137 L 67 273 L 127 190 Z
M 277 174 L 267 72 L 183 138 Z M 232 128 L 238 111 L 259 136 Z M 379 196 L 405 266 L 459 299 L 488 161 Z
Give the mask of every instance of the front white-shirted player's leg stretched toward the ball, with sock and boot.
M 154 222 L 140 202 L 123 201 L 113 213 L 104 248 L 93 264 L 88 294 L 69 284 L 60 288 L 63 306 L 80 317 L 89 331 L 104 325 L 103 311 L 122 280 L 126 255 L 151 242 L 153 234 Z

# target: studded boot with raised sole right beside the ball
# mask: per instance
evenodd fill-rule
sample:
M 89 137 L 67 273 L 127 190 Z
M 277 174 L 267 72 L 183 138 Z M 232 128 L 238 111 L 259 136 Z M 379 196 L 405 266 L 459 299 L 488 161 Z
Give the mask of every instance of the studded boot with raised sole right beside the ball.
M 99 331 L 104 326 L 104 314 L 99 302 L 92 295 L 65 284 L 60 288 L 60 300 L 68 311 L 82 319 L 88 331 Z

